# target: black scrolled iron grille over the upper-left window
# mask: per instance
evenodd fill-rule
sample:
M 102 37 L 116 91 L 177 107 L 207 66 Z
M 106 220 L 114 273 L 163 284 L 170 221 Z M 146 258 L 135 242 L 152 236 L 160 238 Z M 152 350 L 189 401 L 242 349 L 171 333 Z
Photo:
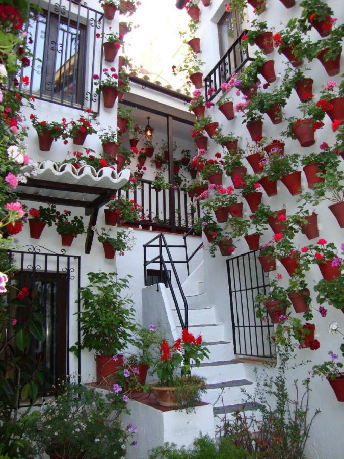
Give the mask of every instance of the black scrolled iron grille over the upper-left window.
M 20 78 L 19 91 L 98 113 L 100 97 L 92 77 L 102 72 L 102 38 L 97 33 L 104 32 L 103 13 L 75 1 L 32 3 L 38 10 L 32 10 L 26 31 L 33 57 L 20 75 L 28 76 L 30 85 L 24 86 Z

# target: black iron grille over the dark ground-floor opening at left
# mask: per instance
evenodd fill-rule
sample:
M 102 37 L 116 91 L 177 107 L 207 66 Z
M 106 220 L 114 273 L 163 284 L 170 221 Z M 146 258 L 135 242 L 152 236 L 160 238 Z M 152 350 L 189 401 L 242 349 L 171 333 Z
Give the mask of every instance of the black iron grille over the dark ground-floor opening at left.
M 80 342 L 80 324 L 70 327 L 70 305 L 73 304 L 75 312 L 80 313 L 81 301 L 78 292 L 81 257 L 66 255 L 64 250 L 58 254 L 41 246 L 29 245 L 23 249 L 27 250 L 9 251 L 13 263 L 18 268 L 14 272 L 12 285 L 17 289 L 28 287 L 35 295 L 44 315 L 46 339 L 42 343 L 32 339 L 29 353 L 40 362 L 40 369 L 46 375 L 41 395 L 56 395 L 58 379 L 71 372 L 70 344 Z M 15 297 L 16 293 L 17 290 L 10 289 L 9 300 Z M 25 312 L 21 311 L 22 309 L 10 310 L 11 317 L 25 320 Z M 6 330 L 9 338 L 10 333 L 11 328 Z M 80 349 L 77 368 L 74 367 L 72 372 L 76 371 L 81 375 Z

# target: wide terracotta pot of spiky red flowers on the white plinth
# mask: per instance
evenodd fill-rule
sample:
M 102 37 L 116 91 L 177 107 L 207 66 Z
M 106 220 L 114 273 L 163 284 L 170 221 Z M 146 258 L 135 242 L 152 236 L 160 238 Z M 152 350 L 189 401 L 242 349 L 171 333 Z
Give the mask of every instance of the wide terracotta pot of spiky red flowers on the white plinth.
M 203 379 L 191 376 L 191 371 L 193 366 L 198 368 L 207 358 L 208 349 L 202 346 L 202 337 L 195 338 L 186 328 L 172 346 L 164 339 L 153 368 L 158 381 L 150 385 L 157 402 L 179 409 L 190 409 L 199 404 L 205 384 Z M 181 377 L 177 375 L 180 369 Z

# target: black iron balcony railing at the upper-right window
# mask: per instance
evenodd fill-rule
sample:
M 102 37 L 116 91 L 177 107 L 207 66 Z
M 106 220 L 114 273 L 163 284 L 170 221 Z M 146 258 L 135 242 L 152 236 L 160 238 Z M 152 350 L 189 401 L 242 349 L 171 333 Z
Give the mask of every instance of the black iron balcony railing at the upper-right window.
M 216 66 L 210 70 L 204 79 L 205 84 L 205 100 L 213 100 L 214 97 L 221 91 L 222 83 L 227 83 L 231 75 L 239 72 L 246 62 L 254 61 L 254 58 L 249 56 L 248 47 L 241 49 L 242 37 L 247 33 L 244 30 L 239 37 L 230 46 L 228 51 L 222 56 Z M 208 89 L 213 88 L 215 92 L 208 94 Z

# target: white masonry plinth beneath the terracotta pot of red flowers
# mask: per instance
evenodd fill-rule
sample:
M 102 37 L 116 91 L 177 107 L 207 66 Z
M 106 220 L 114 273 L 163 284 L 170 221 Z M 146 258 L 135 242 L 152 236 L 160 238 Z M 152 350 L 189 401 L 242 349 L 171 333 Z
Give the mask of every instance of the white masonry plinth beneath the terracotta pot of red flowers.
M 200 433 L 215 437 L 212 405 L 197 406 L 195 413 L 187 414 L 185 410 L 163 412 L 129 400 L 128 409 L 130 415 L 123 414 L 121 420 L 124 426 L 133 424 L 138 432 L 133 437 L 137 446 L 128 446 L 126 459 L 147 459 L 149 450 L 165 442 L 189 446 Z

